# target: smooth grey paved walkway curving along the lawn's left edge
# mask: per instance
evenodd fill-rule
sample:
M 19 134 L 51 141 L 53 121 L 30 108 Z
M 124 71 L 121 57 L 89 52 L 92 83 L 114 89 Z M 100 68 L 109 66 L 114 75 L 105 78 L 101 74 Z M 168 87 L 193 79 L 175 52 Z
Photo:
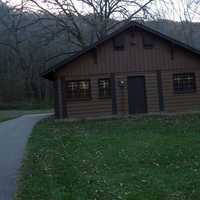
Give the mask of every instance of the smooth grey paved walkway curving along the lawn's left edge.
M 0 200 L 13 200 L 28 137 L 34 125 L 47 116 L 25 115 L 0 123 Z

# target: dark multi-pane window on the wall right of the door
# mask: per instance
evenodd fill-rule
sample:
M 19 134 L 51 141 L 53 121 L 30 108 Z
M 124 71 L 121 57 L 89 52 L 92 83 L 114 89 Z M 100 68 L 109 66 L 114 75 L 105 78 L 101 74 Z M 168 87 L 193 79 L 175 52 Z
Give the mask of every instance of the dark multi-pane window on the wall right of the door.
M 194 73 L 174 74 L 173 82 L 176 93 L 194 92 L 196 89 Z

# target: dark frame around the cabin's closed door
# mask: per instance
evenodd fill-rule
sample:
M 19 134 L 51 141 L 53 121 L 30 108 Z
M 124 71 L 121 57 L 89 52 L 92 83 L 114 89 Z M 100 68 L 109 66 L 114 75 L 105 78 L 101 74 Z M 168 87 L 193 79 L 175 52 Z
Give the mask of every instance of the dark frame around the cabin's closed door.
M 147 105 L 147 93 L 146 93 L 146 78 L 145 78 L 145 75 L 132 75 L 132 76 L 127 76 L 127 93 L 128 93 L 128 113 L 129 115 L 135 115 L 135 114 L 139 114 L 139 113 L 130 113 L 130 100 L 129 100 L 129 84 L 128 84 L 128 79 L 129 78 L 137 78 L 137 77 L 142 77 L 143 80 L 144 80 L 144 105 L 145 105 L 145 112 L 144 113 L 148 113 L 148 105 Z M 142 114 L 142 113 L 141 113 Z

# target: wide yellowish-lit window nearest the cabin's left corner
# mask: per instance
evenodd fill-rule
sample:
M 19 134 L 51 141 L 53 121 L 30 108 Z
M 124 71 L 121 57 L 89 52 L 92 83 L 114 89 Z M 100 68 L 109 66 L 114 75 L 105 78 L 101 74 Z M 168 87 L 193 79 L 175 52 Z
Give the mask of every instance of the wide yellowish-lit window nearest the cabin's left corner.
M 90 81 L 68 81 L 67 98 L 68 99 L 88 99 L 90 98 Z

